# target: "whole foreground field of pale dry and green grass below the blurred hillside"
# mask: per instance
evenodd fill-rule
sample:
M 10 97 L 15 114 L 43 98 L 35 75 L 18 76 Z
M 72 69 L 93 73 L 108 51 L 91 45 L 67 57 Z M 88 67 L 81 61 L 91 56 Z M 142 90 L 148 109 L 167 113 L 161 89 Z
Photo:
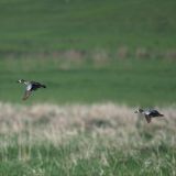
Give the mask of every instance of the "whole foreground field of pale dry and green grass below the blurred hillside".
M 20 165 L 14 175 L 175 175 L 176 110 L 157 109 L 165 117 L 147 124 L 135 108 L 111 102 L 0 102 L 0 169 L 7 174 Z

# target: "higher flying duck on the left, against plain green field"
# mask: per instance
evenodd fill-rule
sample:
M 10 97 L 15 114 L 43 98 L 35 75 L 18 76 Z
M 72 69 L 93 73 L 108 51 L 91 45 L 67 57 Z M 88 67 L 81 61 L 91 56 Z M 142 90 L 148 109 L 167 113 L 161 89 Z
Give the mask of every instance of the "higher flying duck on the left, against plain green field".
M 46 88 L 45 85 L 40 84 L 37 81 L 33 81 L 33 80 L 32 81 L 26 81 L 24 79 L 19 79 L 18 82 L 25 85 L 25 92 L 24 92 L 24 96 L 22 98 L 23 100 L 26 100 L 31 96 L 32 91 L 34 91 L 38 88 Z

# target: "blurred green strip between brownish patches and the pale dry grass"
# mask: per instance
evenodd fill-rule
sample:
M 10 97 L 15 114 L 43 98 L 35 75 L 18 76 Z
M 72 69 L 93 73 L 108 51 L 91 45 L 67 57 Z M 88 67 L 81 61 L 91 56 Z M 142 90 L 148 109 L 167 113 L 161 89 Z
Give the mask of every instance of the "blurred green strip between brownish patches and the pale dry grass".
M 67 65 L 66 69 L 62 68 L 63 63 Z M 112 59 L 98 67 L 87 62 L 81 65 L 69 61 L 63 63 L 53 59 L 1 61 L 1 101 L 22 103 L 24 87 L 15 81 L 24 78 L 47 86 L 47 89 L 35 91 L 25 103 L 113 101 L 132 107 L 175 103 L 175 62 Z

